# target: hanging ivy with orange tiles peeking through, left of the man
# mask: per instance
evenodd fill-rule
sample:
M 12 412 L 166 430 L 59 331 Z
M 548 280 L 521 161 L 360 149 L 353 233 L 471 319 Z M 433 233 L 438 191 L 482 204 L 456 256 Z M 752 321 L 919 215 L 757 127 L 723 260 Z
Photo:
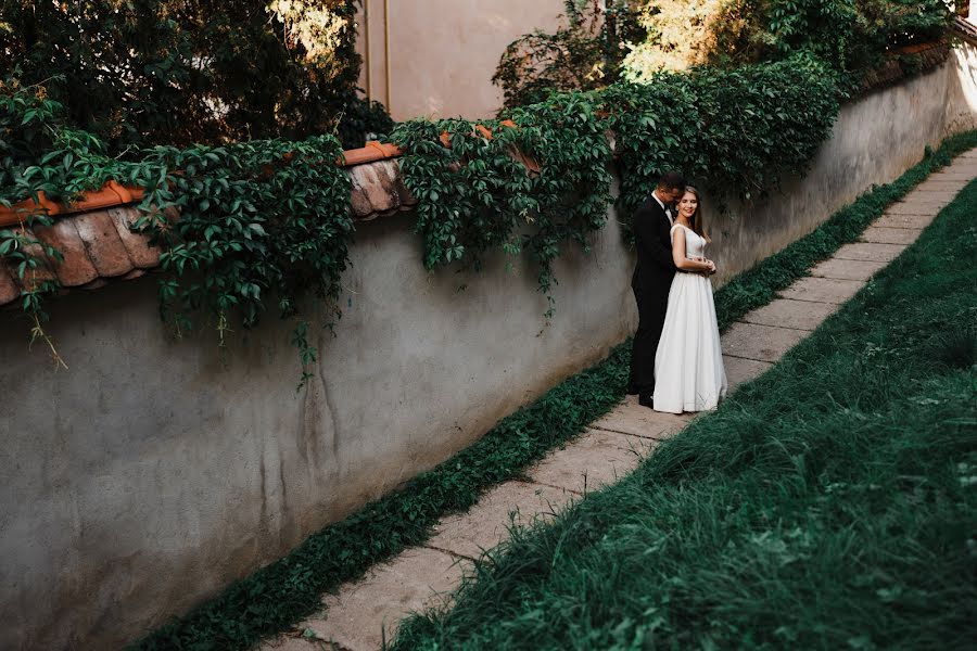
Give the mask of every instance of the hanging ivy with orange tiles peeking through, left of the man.
M 550 297 L 551 265 L 564 243 L 589 251 L 588 234 L 607 220 L 607 125 L 585 93 L 516 110 L 511 119 L 515 127 L 483 122 L 491 136 L 468 120 L 413 120 L 392 139 L 406 150 L 401 169 L 419 202 L 415 230 L 424 240 L 424 266 L 479 269 L 493 248 L 526 251 Z

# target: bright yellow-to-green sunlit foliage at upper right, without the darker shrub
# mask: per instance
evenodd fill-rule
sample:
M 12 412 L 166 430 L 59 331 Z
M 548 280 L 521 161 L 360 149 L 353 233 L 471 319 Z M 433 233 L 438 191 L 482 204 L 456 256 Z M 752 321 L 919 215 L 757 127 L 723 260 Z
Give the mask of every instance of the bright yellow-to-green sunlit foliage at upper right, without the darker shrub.
M 639 17 L 648 38 L 631 49 L 624 75 L 807 52 L 857 80 L 891 48 L 941 38 L 951 17 L 942 0 L 650 0 Z

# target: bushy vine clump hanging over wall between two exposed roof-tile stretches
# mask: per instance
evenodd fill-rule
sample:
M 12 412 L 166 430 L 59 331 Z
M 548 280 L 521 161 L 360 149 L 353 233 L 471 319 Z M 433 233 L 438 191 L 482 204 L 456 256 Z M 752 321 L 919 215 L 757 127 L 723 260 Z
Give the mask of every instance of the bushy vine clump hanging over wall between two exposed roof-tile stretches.
M 306 295 L 334 306 L 353 233 L 341 153 L 332 136 L 150 150 L 141 165 L 158 174 L 127 181 L 148 190 L 136 228 L 163 247 L 161 316 L 183 331 L 211 315 L 224 345 L 234 317 L 252 328 L 269 304 L 282 318 L 299 316 Z M 306 371 L 317 360 L 307 332 L 299 319 Z

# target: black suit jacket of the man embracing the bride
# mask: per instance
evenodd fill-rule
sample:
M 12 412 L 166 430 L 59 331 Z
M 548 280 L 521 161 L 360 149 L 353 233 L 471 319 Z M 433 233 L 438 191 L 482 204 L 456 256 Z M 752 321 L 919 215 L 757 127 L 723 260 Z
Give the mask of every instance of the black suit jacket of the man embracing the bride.
M 635 292 L 668 296 L 677 268 L 672 259 L 672 228 L 664 208 L 648 196 L 634 213 L 632 229 L 637 246 L 637 266 L 631 278 Z

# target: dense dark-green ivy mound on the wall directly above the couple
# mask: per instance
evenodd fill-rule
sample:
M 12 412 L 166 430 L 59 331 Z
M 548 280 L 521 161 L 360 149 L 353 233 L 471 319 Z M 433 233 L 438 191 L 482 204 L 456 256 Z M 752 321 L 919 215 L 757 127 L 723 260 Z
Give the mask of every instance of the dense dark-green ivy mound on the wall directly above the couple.
M 667 169 L 720 196 L 766 195 L 800 177 L 830 136 L 840 91 L 809 58 L 722 71 L 659 73 L 602 95 L 630 215 Z

